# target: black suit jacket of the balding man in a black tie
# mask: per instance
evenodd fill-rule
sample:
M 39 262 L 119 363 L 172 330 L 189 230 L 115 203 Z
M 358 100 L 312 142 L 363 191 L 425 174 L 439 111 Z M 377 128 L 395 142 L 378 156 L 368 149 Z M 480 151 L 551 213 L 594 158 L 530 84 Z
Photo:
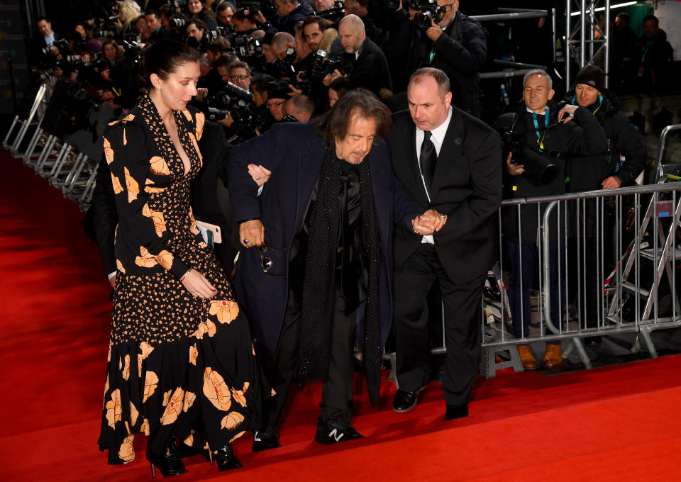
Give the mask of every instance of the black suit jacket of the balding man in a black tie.
M 487 273 L 497 259 L 494 213 L 502 200 L 501 138 L 481 120 L 453 107 L 447 134 L 438 156 L 431 201 L 416 161 L 416 125 L 409 111 L 393 114 L 388 135 L 392 167 L 409 194 L 425 210 L 448 215 L 434 236 L 438 257 L 455 283 Z M 395 230 L 395 268 L 419 247 L 421 238 Z

